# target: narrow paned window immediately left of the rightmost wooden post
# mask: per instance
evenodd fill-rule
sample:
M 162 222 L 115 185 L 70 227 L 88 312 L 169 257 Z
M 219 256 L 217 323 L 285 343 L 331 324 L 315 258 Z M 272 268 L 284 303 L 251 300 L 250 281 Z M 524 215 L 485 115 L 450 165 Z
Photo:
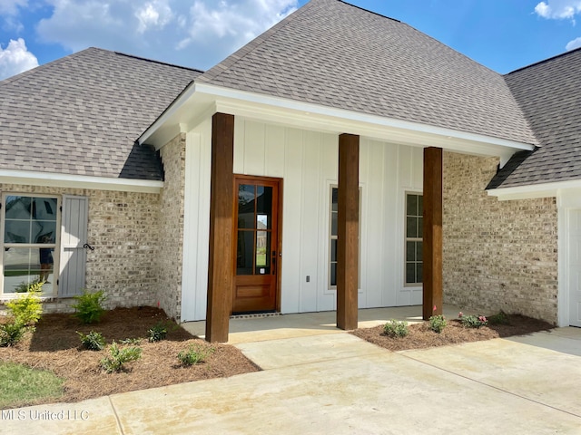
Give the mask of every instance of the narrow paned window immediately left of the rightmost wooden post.
M 406 285 L 422 283 L 423 214 L 423 196 L 406 193 Z

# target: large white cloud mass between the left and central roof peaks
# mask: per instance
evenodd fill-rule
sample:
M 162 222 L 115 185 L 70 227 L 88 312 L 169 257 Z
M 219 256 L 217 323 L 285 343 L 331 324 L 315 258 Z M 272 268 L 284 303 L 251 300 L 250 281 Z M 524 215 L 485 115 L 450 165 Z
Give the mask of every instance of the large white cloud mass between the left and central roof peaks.
M 0 0 L 3 1 L 3 0 Z M 37 32 L 71 51 L 88 46 L 208 68 L 290 14 L 298 0 L 44 0 Z

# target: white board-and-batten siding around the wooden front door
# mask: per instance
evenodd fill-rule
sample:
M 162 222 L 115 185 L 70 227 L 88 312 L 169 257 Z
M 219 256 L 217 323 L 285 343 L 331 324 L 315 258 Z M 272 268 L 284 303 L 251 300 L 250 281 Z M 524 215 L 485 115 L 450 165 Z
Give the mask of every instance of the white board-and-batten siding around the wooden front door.
M 186 139 L 182 321 L 206 314 L 211 136 L 205 121 Z M 336 309 L 329 263 L 338 140 L 235 119 L 234 172 L 283 179 L 282 313 Z M 359 308 L 421 304 L 421 287 L 404 285 L 404 201 L 421 192 L 423 150 L 361 138 L 359 155 Z

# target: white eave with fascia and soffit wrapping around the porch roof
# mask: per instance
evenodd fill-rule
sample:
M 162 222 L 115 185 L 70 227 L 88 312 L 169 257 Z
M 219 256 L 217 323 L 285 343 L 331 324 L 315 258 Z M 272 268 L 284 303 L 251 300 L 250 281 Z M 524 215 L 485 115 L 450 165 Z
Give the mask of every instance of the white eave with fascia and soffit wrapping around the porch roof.
M 496 156 L 500 157 L 501 165 L 517 150 L 535 148 L 514 140 L 195 82 L 143 133 L 139 142 L 159 149 L 179 132 L 192 130 L 216 111 L 303 130 L 351 133 L 411 146 L 434 146 L 468 154 Z

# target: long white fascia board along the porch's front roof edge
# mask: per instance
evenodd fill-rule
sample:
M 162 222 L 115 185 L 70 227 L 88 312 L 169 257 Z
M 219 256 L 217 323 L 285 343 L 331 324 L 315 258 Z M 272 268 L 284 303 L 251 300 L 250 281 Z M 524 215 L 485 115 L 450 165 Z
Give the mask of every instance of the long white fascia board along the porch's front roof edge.
M 379 131 L 387 128 L 393 129 L 394 131 L 424 133 L 438 136 L 448 141 L 466 140 L 469 142 L 479 142 L 515 151 L 535 149 L 534 145 L 517 142 L 515 140 L 494 138 L 466 131 L 456 131 L 443 127 L 420 124 L 418 122 L 400 121 L 378 115 L 335 109 L 309 102 L 297 102 L 259 93 L 237 91 L 206 83 L 196 84 L 196 92 L 210 94 L 217 97 L 217 110 L 221 111 L 223 109 L 235 111 L 235 113 L 232 113 L 234 115 L 240 114 L 243 116 L 251 116 L 253 114 L 254 116 L 267 116 L 270 114 L 274 117 L 281 117 L 281 119 L 285 119 L 287 122 L 291 122 L 292 118 L 295 118 L 295 121 L 300 121 L 301 125 L 309 125 L 312 122 L 317 123 L 317 117 L 313 115 L 320 115 L 323 117 L 323 119 L 319 121 L 322 127 L 326 126 L 327 129 L 332 129 L 333 131 L 338 132 L 365 134 L 366 131 L 377 130 L 379 133 Z M 289 111 L 291 111 L 291 113 Z M 333 119 L 335 122 L 330 123 Z M 375 129 L 373 129 L 373 127 L 375 127 Z M 438 143 L 438 145 L 446 148 L 446 143 Z

